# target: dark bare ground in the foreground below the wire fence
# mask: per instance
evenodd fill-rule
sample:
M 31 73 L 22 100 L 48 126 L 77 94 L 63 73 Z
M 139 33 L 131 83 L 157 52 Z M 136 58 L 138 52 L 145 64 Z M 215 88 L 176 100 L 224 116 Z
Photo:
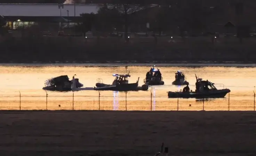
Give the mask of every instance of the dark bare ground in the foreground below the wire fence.
M 1 155 L 256 154 L 255 112 L 1 111 Z

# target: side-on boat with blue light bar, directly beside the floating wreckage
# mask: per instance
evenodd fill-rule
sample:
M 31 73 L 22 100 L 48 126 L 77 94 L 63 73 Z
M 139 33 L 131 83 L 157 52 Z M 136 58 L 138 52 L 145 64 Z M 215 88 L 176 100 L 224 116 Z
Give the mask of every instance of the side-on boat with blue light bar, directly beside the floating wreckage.
M 104 84 L 102 79 L 97 79 L 96 87 L 94 90 L 104 91 L 104 90 L 111 90 L 111 91 L 139 91 L 143 90 L 146 91 L 149 89 L 147 84 L 143 84 L 142 86 L 138 86 L 139 77 L 136 83 L 129 83 L 128 77 L 131 75 L 129 74 L 113 74 L 115 77 L 112 84 Z

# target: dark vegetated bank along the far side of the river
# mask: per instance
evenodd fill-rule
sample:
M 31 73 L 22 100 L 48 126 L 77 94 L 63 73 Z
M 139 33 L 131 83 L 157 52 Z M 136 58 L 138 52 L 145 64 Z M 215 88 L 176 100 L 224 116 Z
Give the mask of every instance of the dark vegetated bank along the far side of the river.
M 254 38 L 6 37 L 0 63 L 256 63 Z M 130 60 L 130 61 L 127 61 Z

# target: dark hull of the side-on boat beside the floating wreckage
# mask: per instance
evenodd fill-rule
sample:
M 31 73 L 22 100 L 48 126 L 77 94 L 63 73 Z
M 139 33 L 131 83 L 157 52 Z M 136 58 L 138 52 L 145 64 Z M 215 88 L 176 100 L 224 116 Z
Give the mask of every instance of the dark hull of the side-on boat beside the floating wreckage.
M 98 85 L 99 87 L 94 88 L 94 90 L 99 91 L 146 91 L 149 89 L 147 84 L 138 86 L 138 83 L 129 83 L 129 84 L 119 84 L 119 85 Z

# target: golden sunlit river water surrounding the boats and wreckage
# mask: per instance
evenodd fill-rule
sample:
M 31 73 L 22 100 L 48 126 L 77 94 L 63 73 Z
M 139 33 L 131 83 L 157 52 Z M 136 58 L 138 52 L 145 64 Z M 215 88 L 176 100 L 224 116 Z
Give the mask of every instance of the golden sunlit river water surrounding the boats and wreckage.
M 161 64 L 160 69 L 165 85 L 154 86 L 152 91 L 114 92 L 114 91 L 78 91 L 73 93 L 50 92 L 48 97 L 42 90 L 46 79 L 59 75 L 68 75 L 70 79 L 77 74 L 84 87 L 94 87 L 96 79 L 112 84 L 112 74 L 126 72 L 125 64 L 0 64 L 0 109 L 23 110 L 254 110 L 254 86 L 256 85 L 256 65 L 245 64 Z M 149 64 L 129 64 L 127 69 L 131 77 L 129 82 L 143 84 Z M 195 74 L 204 80 L 215 83 L 218 89 L 231 90 L 222 99 L 195 100 L 169 99 L 168 91 L 183 89 L 183 86 L 171 85 L 175 72 L 183 71 L 190 89 L 195 90 Z M 220 85 L 217 85 L 220 84 Z M 21 93 L 21 98 L 20 94 Z M 152 92 L 152 100 L 151 100 Z M 100 93 L 100 97 L 99 97 Z M 46 100 L 47 98 L 47 100 Z M 46 103 L 47 101 L 47 103 Z M 152 105 L 152 107 L 151 107 Z

